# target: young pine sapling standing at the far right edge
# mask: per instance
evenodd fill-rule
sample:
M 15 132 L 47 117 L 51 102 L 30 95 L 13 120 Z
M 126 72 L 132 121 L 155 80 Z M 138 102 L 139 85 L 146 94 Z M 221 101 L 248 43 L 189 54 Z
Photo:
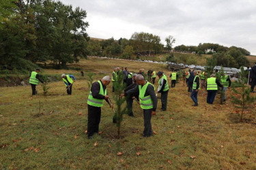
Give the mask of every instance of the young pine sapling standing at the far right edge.
M 238 79 L 238 84 L 242 88 L 237 90 L 236 88 L 233 87 L 233 92 L 236 94 L 236 96 L 232 95 L 231 96 L 231 102 L 235 104 L 235 107 L 238 107 L 242 109 L 241 111 L 241 117 L 240 117 L 240 122 L 242 122 L 242 116 L 244 114 L 244 109 L 248 109 L 248 106 L 255 101 L 255 97 L 251 97 L 251 88 L 246 85 L 247 82 L 247 71 L 244 71 L 244 67 L 241 67 L 241 72 L 240 72 L 240 78 Z M 252 108 L 252 107 L 251 107 Z

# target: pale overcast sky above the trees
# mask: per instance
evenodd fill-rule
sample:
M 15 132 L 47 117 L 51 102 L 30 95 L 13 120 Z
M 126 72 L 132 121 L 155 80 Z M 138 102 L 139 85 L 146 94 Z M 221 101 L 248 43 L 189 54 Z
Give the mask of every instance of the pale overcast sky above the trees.
M 130 39 L 134 32 L 173 35 L 174 46 L 216 43 L 256 55 L 255 0 L 61 0 L 87 11 L 90 37 Z

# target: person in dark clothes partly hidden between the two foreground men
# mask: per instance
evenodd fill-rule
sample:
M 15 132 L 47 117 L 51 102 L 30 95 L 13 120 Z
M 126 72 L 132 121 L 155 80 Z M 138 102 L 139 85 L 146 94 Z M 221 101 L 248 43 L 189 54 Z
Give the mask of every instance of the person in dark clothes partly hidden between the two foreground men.
M 137 86 L 137 83 L 136 83 L 136 80 L 135 80 L 135 77 L 136 77 L 136 73 L 134 73 L 132 75 L 132 84 L 129 84 L 127 83 L 127 87 L 126 89 L 124 89 L 124 92 L 127 92 L 128 90 L 134 88 Z M 133 97 L 137 98 L 137 100 L 139 101 L 139 95 L 136 95 L 136 94 L 130 94 L 126 97 L 126 106 L 127 106 L 127 109 L 128 109 L 128 116 L 131 116 L 131 117 L 134 117 L 133 115 L 133 112 L 132 112 L 132 103 L 133 103 Z

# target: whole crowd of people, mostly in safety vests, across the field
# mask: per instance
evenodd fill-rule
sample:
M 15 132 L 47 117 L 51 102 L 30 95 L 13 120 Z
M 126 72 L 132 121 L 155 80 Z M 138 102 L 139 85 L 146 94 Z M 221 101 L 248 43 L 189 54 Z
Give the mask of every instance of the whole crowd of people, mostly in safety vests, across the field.
M 248 70 L 248 78 L 251 83 L 251 92 L 254 91 L 255 83 L 256 83 L 256 63 L 255 65 Z M 35 69 L 35 71 L 31 72 L 29 83 L 32 88 L 32 95 L 36 95 L 35 86 L 38 85 L 39 81 L 44 83 L 40 75 L 38 73 L 40 69 Z M 134 72 L 134 71 L 132 71 Z M 149 70 L 147 71 L 147 80 L 145 77 L 144 69 L 139 69 L 138 73 L 132 73 L 128 71 L 128 67 L 120 69 L 116 67 L 113 70 L 112 78 L 109 75 L 104 76 L 101 80 L 98 80 L 91 84 L 87 105 L 88 105 L 88 123 L 87 123 L 87 134 L 88 139 L 92 139 L 94 133 L 98 133 L 100 117 L 101 117 L 101 107 L 103 106 L 104 100 L 109 103 L 110 107 L 113 109 L 113 104 L 111 103 L 109 96 L 106 92 L 106 86 L 108 86 L 111 81 L 113 84 L 112 91 L 115 92 L 115 87 L 119 80 L 119 74 L 122 74 L 122 83 L 126 84 L 126 88 L 124 89 L 124 94 L 120 95 L 120 97 L 126 97 L 126 104 L 128 107 L 128 116 L 134 117 L 132 112 L 132 103 L 136 100 L 141 108 L 143 109 L 143 118 L 144 118 L 144 131 L 143 137 L 150 137 L 153 135 L 151 118 L 156 115 L 156 107 L 158 104 L 158 94 L 160 95 L 162 107 L 160 111 L 165 112 L 167 110 L 167 99 L 169 93 L 169 83 L 167 79 L 167 75 L 162 71 Z M 210 76 L 208 75 L 210 74 Z M 154 84 L 156 83 L 156 75 L 158 75 L 158 89 L 155 91 Z M 66 90 L 68 95 L 72 95 L 72 84 L 76 81 L 74 75 L 66 75 L 62 74 L 61 78 L 66 85 Z M 177 72 L 172 71 L 171 75 L 171 88 L 175 88 L 175 84 L 179 75 Z M 216 93 L 218 88 L 223 92 L 222 100 L 226 101 L 226 92 L 227 88 L 231 86 L 231 80 L 228 75 L 223 73 L 219 73 L 216 69 L 214 73 L 207 73 L 202 71 L 201 73 L 190 70 L 188 68 L 187 72 L 182 73 L 182 80 L 185 86 L 188 86 L 188 92 L 190 93 L 190 97 L 193 100 L 193 107 L 199 105 L 197 95 L 201 88 L 205 88 L 208 92 L 206 102 L 208 104 L 213 104 L 214 99 L 216 97 Z M 116 123 L 116 120 L 113 118 L 113 123 Z

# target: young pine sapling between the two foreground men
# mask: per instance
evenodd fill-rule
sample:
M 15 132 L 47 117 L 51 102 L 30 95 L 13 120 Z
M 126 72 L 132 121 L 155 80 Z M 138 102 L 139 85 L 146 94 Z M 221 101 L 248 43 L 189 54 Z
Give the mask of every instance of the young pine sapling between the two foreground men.
M 122 93 L 124 93 L 124 89 L 126 88 L 126 84 L 123 84 L 124 75 L 122 73 L 119 73 L 117 76 L 117 81 L 114 84 L 115 88 L 115 95 L 114 100 L 117 105 L 117 109 L 115 109 L 115 115 L 113 119 L 116 121 L 117 125 L 117 139 L 120 138 L 120 129 L 121 129 L 121 122 L 123 120 L 123 115 L 128 114 L 127 107 L 122 107 L 124 102 L 126 101 L 126 98 L 119 98 Z

